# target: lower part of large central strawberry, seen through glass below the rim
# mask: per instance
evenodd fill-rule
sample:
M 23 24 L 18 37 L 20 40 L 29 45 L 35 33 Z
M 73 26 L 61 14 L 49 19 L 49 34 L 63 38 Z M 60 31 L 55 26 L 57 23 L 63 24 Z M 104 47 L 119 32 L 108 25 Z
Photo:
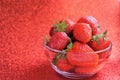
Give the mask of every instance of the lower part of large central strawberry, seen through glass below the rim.
M 68 61 L 75 66 L 96 66 L 98 64 L 98 54 L 94 53 L 81 53 L 81 52 L 68 52 Z

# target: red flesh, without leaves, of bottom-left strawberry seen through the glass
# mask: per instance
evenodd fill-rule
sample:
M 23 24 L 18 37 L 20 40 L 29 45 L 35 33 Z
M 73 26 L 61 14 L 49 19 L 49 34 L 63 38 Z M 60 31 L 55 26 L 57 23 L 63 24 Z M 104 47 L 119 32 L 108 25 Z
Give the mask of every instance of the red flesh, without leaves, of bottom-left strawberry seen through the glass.
M 57 63 L 57 67 L 62 71 L 69 71 L 73 69 L 73 65 L 71 65 L 67 59 L 59 59 Z

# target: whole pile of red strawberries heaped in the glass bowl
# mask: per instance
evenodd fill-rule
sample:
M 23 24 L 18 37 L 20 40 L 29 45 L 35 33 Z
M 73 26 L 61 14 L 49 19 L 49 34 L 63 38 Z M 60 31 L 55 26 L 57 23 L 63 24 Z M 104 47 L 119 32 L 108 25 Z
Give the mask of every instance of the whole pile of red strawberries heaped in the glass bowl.
M 65 54 L 57 53 L 53 64 L 62 71 L 83 74 L 94 71 L 99 59 L 105 57 L 104 53 L 94 52 L 110 45 L 106 33 L 101 33 L 98 21 L 92 16 L 81 17 L 77 23 L 70 19 L 56 21 L 50 29 L 51 38 L 46 39 L 46 45 Z

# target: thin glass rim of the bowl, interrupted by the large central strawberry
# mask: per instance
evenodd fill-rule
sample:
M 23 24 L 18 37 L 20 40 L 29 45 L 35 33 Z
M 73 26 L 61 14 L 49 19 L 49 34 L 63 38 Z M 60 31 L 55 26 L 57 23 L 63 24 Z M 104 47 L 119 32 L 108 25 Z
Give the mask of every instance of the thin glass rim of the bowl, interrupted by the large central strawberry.
M 44 47 L 47 48 L 48 50 L 52 51 L 52 52 L 63 53 L 63 54 L 67 53 L 67 52 L 65 52 L 65 51 L 60 51 L 60 50 L 56 50 L 56 49 L 53 49 L 53 48 L 49 47 L 49 46 L 46 44 L 46 42 L 44 42 Z M 87 53 L 100 54 L 100 53 L 102 53 L 102 52 L 104 52 L 104 51 L 107 51 L 107 50 L 110 50 L 110 49 L 112 49 L 112 42 L 110 42 L 110 45 L 109 45 L 107 48 L 105 48 L 105 49 L 98 50 L 98 51 L 94 51 L 94 52 L 87 52 Z

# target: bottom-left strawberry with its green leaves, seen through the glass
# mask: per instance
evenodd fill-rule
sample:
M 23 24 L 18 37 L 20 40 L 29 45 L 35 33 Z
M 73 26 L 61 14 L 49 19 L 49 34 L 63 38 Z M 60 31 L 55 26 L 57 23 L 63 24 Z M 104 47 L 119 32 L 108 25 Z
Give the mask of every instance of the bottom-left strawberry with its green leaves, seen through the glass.
M 53 64 L 56 65 L 62 71 L 69 71 L 74 67 L 68 62 L 66 54 L 61 53 L 57 53 L 55 55 L 55 58 L 53 59 Z

